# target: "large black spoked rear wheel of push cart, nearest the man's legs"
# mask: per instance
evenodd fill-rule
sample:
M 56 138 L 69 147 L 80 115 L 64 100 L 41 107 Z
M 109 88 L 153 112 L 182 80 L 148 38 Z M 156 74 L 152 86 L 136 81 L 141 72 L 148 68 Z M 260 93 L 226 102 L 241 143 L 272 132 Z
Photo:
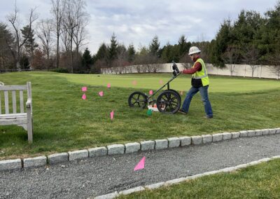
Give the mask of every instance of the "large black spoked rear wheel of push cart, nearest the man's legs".
M 158 110 L 166 114 L 175 114 L 181 107 L 181 97 L 173 90 L 165 90 L 158 96 Z

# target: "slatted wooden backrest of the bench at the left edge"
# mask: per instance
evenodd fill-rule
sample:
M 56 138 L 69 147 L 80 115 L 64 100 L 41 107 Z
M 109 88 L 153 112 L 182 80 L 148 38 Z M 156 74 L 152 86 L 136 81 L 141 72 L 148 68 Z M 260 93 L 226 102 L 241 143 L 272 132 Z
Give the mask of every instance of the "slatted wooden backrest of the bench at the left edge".
M 27 85 L 0 85 L 0 114 L 25 113 L 24 90 L 27 90 L 27 99 L 31 99 L 30 82 L 27 82 Z M 17 95 L 19 100 L 17 100 Z M 20 106 L 17 107 L 17 104 Z M 19 110 L 17 111 L 18 108 Z

